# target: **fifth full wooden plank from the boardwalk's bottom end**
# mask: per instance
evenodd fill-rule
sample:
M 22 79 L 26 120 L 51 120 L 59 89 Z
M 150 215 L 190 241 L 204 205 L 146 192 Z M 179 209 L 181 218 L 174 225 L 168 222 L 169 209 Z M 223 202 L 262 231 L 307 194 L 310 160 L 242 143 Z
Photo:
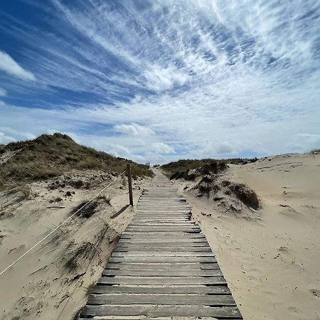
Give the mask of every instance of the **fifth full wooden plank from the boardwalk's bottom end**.
M 102 272 L 105 276 L 125 275 L 125 276 L 159 276 L 159 277 L 222 277 L 220 270 L 145 270 L 143 267 L 135 270 L 128 269 L 105 269 Z

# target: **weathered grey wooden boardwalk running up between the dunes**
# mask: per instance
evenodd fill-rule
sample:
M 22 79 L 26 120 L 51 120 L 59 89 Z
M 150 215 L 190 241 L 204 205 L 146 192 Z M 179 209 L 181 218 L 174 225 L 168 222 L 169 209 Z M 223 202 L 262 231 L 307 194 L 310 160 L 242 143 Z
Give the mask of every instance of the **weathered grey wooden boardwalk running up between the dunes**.
M 155 174 L 80 319 L 242 319 L 190 206 Z

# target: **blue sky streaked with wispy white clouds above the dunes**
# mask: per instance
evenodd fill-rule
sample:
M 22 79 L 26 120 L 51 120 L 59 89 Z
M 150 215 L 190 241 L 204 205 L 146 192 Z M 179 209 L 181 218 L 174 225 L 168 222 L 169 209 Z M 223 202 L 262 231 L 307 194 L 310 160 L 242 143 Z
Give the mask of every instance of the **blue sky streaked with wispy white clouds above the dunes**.
M 134 161 L 320 147 L 320 0 L 3 0 L 0 144 Z

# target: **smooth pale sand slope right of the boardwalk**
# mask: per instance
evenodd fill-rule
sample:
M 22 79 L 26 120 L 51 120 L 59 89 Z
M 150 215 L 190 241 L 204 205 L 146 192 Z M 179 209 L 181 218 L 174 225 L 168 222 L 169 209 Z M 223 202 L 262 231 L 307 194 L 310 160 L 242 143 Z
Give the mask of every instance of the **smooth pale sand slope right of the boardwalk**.
M 250 186 L 262 208 L 249 217 L 184 196 L 244 319 L 320 319 L 320 155 L 234 165 L 223 178 Z M 186 185 L 178 183 L 181 193 Z

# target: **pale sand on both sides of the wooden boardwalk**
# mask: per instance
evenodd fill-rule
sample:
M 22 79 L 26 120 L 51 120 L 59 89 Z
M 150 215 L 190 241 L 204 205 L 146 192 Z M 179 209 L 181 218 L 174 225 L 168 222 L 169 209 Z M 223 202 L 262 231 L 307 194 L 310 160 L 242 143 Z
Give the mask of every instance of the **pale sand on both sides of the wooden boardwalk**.
M 1 270 L 95 194 L 102 183 L 96 172 L 90 177 L 79 172 L 70 176 L 89 179 L 93 186 L 49 191 L 49 183 L 42 182 L 33 183 L 29 190 L 1 194 Z M 220 178 L 246 183 L 259 196 L 261 208 L 250 210 L 226 195 L 218 202 L 199 198 L 190 191 L 188 181 L 172 184 L 193 207 L 193 219 L 206 234 L 244 319 L 320 319 L 320 155 L 288 154 L 233 165 Z M 111 179 L 106 177 L 105 183 Z M 135 201 L 144 183 L 134 183 Z M 68 197 L 66 191 L 75 194 Z M 23 200 L 26 193 L 28 198 Z M 111 206 L 102 201 L 91 218 L 75 218 L 58 237 L 0 276 L 0 319 L 72 319 L 85 304 L 134 214 L 126 208 L 127 186 L 122 181 L 106 196 L 112 198 Z M 50 203 L 56 198 L 62 201 Z M 229 210 L 226 204 L 230 203 L 240 209 Z M 78 267 L 68 265 L 68 257 L 75 257 L 73 248 L 97 242 L 103 230 L 95 255 L 80 260 Z

